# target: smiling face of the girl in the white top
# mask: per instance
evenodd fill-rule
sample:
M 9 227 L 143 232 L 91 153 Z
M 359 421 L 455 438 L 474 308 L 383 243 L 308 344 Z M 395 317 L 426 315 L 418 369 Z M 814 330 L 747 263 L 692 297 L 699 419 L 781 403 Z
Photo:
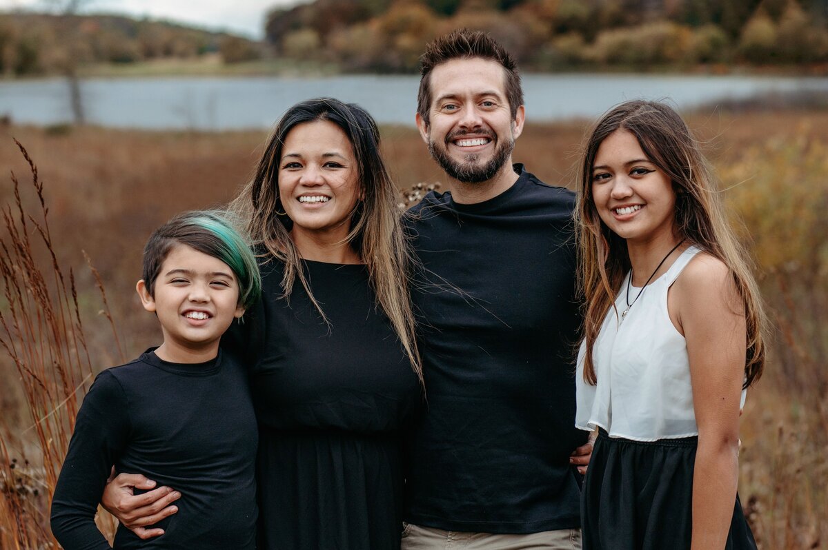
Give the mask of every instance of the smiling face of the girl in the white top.
M 675 234 L 672 182 L 623 128 L 609 134 L 598 148 L 592 198 L 601 220 L 628 241 L 650 242 Z

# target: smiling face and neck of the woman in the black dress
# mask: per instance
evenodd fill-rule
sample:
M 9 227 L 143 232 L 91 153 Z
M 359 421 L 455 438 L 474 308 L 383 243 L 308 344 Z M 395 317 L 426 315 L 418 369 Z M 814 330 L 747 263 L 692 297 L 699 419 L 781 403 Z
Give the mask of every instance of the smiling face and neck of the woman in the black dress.
M 294 239 L 344 239 L 361 194 L 348 136 L 330 121 L 304 122 L 287 133 L 279 163 L 279 196 Z

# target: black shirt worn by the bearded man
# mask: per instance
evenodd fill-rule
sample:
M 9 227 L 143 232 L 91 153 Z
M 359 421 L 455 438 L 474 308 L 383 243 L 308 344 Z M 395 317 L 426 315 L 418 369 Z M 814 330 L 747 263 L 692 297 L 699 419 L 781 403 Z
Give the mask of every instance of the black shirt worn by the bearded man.
M 520 177 L 483 203 L 428 194 L 408 229 L 428 407 L 406 520 L 484 533 L 580 525 L 575 195 Z

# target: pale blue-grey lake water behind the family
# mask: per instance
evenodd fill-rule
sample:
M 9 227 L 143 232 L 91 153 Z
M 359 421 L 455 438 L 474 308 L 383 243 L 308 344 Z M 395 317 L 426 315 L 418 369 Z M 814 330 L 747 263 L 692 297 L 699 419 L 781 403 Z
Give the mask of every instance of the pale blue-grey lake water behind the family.
M 267 128 L 292 104 L 332 96 L 367 108 L 380 123 L 414 124 L 417 76 L 330 78 L 88 79 L 81 83 L 88 122 L 105 127 L 238 130 Z M 724 99 L 797 91 L 828 93 L 828 78 L 527 74 L 531 122 L 597 117 L 627 99 L 672 100 L 691 108 Z M 0 116 L 16 123 L 70 122 L 63 79 L 0 82 Z

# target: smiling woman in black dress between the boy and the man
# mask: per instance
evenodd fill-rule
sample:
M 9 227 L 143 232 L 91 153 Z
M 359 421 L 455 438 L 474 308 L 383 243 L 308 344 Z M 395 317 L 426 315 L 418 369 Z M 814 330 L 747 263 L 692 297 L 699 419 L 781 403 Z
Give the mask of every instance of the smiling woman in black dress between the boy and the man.
M 259 548 L 399 548 L 400 434 L 422 375 L 396 197 L 368 112 L 314 99 L 288 109 L 231 204 L 262 271 L 237 338 L 259 423 Z

